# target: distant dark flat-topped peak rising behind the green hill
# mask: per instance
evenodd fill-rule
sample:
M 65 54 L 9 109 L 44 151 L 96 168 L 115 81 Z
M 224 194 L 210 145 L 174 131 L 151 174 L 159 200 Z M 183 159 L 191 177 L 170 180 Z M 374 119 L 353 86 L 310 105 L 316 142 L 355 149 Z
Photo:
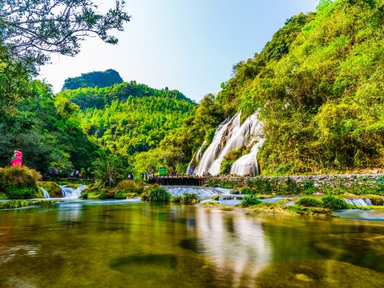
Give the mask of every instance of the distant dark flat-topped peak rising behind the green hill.
M 113 84 L 121 83 L 123 79 L 120 77 L 119 72 L 108 69 L 106 71 L 93 71 L 83 73 L 81 76 L 67 78 L 62 86 L 62 91 L 67 89 L 77 89 L 86 87 L 107 87 Z

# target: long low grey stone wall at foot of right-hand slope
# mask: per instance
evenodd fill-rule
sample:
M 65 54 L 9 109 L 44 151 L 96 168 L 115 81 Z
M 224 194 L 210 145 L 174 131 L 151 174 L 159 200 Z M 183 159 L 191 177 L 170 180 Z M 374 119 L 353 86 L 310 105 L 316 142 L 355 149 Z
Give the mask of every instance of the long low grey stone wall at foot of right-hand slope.
M 384 174 L 343 174 L 343 175 L 316 175 L 316 176 L 275 176 L 275 177 L 213 177 L 206 181 L 207 186 L 258 187 L 267 185 L 274 189 L 297 189 L 313 187 L 321 191 L 332 188 L 348 189 L 376 189 L 383 187 Z

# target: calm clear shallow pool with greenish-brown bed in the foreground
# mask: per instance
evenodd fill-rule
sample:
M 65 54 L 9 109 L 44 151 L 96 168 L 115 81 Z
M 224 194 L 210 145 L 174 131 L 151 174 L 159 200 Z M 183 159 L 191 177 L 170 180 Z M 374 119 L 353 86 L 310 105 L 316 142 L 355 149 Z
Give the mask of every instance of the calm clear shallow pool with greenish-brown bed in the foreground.
M 121 200 L 0 211 L 0 287 L 379 287 L 384 223 Z

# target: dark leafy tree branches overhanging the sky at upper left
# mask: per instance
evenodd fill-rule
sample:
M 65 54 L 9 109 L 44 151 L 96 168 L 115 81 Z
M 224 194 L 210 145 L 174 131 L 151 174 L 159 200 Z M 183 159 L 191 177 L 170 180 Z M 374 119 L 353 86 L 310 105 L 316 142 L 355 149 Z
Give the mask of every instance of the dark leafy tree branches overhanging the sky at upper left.
M 117 44 L 108 32 L 123 31 L 123 24 L 130 21 L 124 4 L 116 0 L 115 8 L 101 14 L 91 0 L 2 0 L 0 38 L 12 57 L 37 65 L 49 61 L 49 53 L 75 56 L 88 36 Z

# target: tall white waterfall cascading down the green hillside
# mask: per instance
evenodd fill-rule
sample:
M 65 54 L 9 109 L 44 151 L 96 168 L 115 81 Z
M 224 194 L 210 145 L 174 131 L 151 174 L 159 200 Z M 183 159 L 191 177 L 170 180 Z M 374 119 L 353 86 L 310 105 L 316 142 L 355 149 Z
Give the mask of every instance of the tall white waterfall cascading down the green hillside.
M 239 162 L 233 168 L 238 175 L 258 175 L 259 169 L 256 160 L 256 154 L 259 147 L 263 144 L 263 122 L 259 121 L 258 113 L 254 113 L 248 119 L 245 119 L 240 125 L 241 113 L 237 113 L 232 119 L 224 121 L 217 128 L 211 145 L 208 146 L 200 163 L 195 169 L 196 175 L 210 173 L 215 176 L 219 174 L 221 162 L 224 156 L 229 152 L 239 149 L 241 146 L 252 147 L 251 153 L 241 157 Z M 231 169 L 232 173 L 232 169 Z

